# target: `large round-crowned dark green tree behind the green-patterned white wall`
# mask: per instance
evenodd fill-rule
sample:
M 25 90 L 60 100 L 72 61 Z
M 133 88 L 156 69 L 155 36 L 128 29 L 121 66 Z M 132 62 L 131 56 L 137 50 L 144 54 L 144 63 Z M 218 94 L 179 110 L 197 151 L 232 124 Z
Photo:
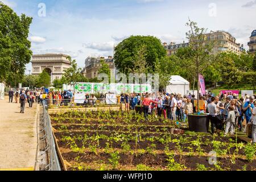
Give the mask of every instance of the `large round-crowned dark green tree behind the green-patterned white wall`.
M 146 47 L 146 62 L 152 71 L 155 71 L 155 62 L 166 56 L 166 49 L 160 40 L 154 36 L 130 36 L 115 47 L 115 65 L 121 73 L 130 73 L 134 69 L 134 60 L 138 49 Z

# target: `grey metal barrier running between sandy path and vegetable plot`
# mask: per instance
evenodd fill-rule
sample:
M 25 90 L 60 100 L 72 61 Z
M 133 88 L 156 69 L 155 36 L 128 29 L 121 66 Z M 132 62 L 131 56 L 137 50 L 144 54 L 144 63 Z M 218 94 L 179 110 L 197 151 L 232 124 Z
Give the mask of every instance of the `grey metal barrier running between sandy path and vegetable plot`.
M 43 150 L 43 154 L 46 154 L 48 152 L 49 156 L 49 162 L 46 166 L 47 171 L 61 171 L 59 158 L 57 156 L 56 152 L 56 145 L 55 140 L 53 138 L 53 131 L 52 131 L 52 125 L 51 125 L 51 119 L 49 117 L 49 114 L 46 110 L 47 104 L 46 102 L 43 102 L 43 129 L 40 131 L 40 133 L 44 132 L 44 136 L 40 138 L 40 140 L 46 140 L 47 145 Z

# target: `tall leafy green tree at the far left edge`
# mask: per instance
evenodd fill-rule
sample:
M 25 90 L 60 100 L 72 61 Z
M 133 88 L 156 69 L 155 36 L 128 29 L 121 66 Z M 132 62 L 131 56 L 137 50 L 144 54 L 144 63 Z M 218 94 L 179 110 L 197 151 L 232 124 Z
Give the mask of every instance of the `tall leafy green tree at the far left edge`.
M 18 16 L 9 6 L 0 2 L 0 81 L 23 76 L 30 63 L 31 42 L 27 39 L 32 18 Z

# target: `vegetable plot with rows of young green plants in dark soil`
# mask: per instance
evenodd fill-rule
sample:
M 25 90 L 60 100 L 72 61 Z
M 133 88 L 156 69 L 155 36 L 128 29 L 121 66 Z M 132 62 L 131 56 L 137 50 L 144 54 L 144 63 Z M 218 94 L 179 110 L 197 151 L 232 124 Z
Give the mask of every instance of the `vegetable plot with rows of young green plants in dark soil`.
M 253 144 L 189 131 L 171 134 L 177 126 L 164 118 L 145 121 L 133 112 L 71 111 L 51 119 L 68 170 L 256 169 Z

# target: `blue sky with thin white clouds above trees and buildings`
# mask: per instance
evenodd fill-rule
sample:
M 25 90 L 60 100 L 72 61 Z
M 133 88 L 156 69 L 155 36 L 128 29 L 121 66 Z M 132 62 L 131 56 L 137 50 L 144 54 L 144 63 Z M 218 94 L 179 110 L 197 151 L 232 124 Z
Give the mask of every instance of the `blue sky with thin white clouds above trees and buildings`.
M 130 35 L 154 35 L 167 43 L 186 41 L 188 17 L 209 31 L 229 31 L 246 49 L 256 29 L 256 0 L 2 1 L 16 13 L 33 17 L 30 40 L 35 54 L 67 53 L 79 67 L 89 55 L 113 55 L 114 45 Z M 46 5 L 46 16 L 38 15 L 40 3 Z

